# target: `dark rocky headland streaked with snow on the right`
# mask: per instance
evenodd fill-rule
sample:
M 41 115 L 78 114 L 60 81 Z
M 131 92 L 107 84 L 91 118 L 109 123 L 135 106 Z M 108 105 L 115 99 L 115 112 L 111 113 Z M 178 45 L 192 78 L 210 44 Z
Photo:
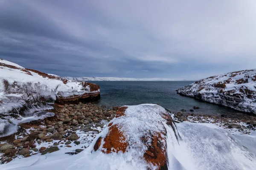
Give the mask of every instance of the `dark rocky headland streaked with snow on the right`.
M 256 113 L 256 69 L 201 79 L 177 90 L 178 94 Z

